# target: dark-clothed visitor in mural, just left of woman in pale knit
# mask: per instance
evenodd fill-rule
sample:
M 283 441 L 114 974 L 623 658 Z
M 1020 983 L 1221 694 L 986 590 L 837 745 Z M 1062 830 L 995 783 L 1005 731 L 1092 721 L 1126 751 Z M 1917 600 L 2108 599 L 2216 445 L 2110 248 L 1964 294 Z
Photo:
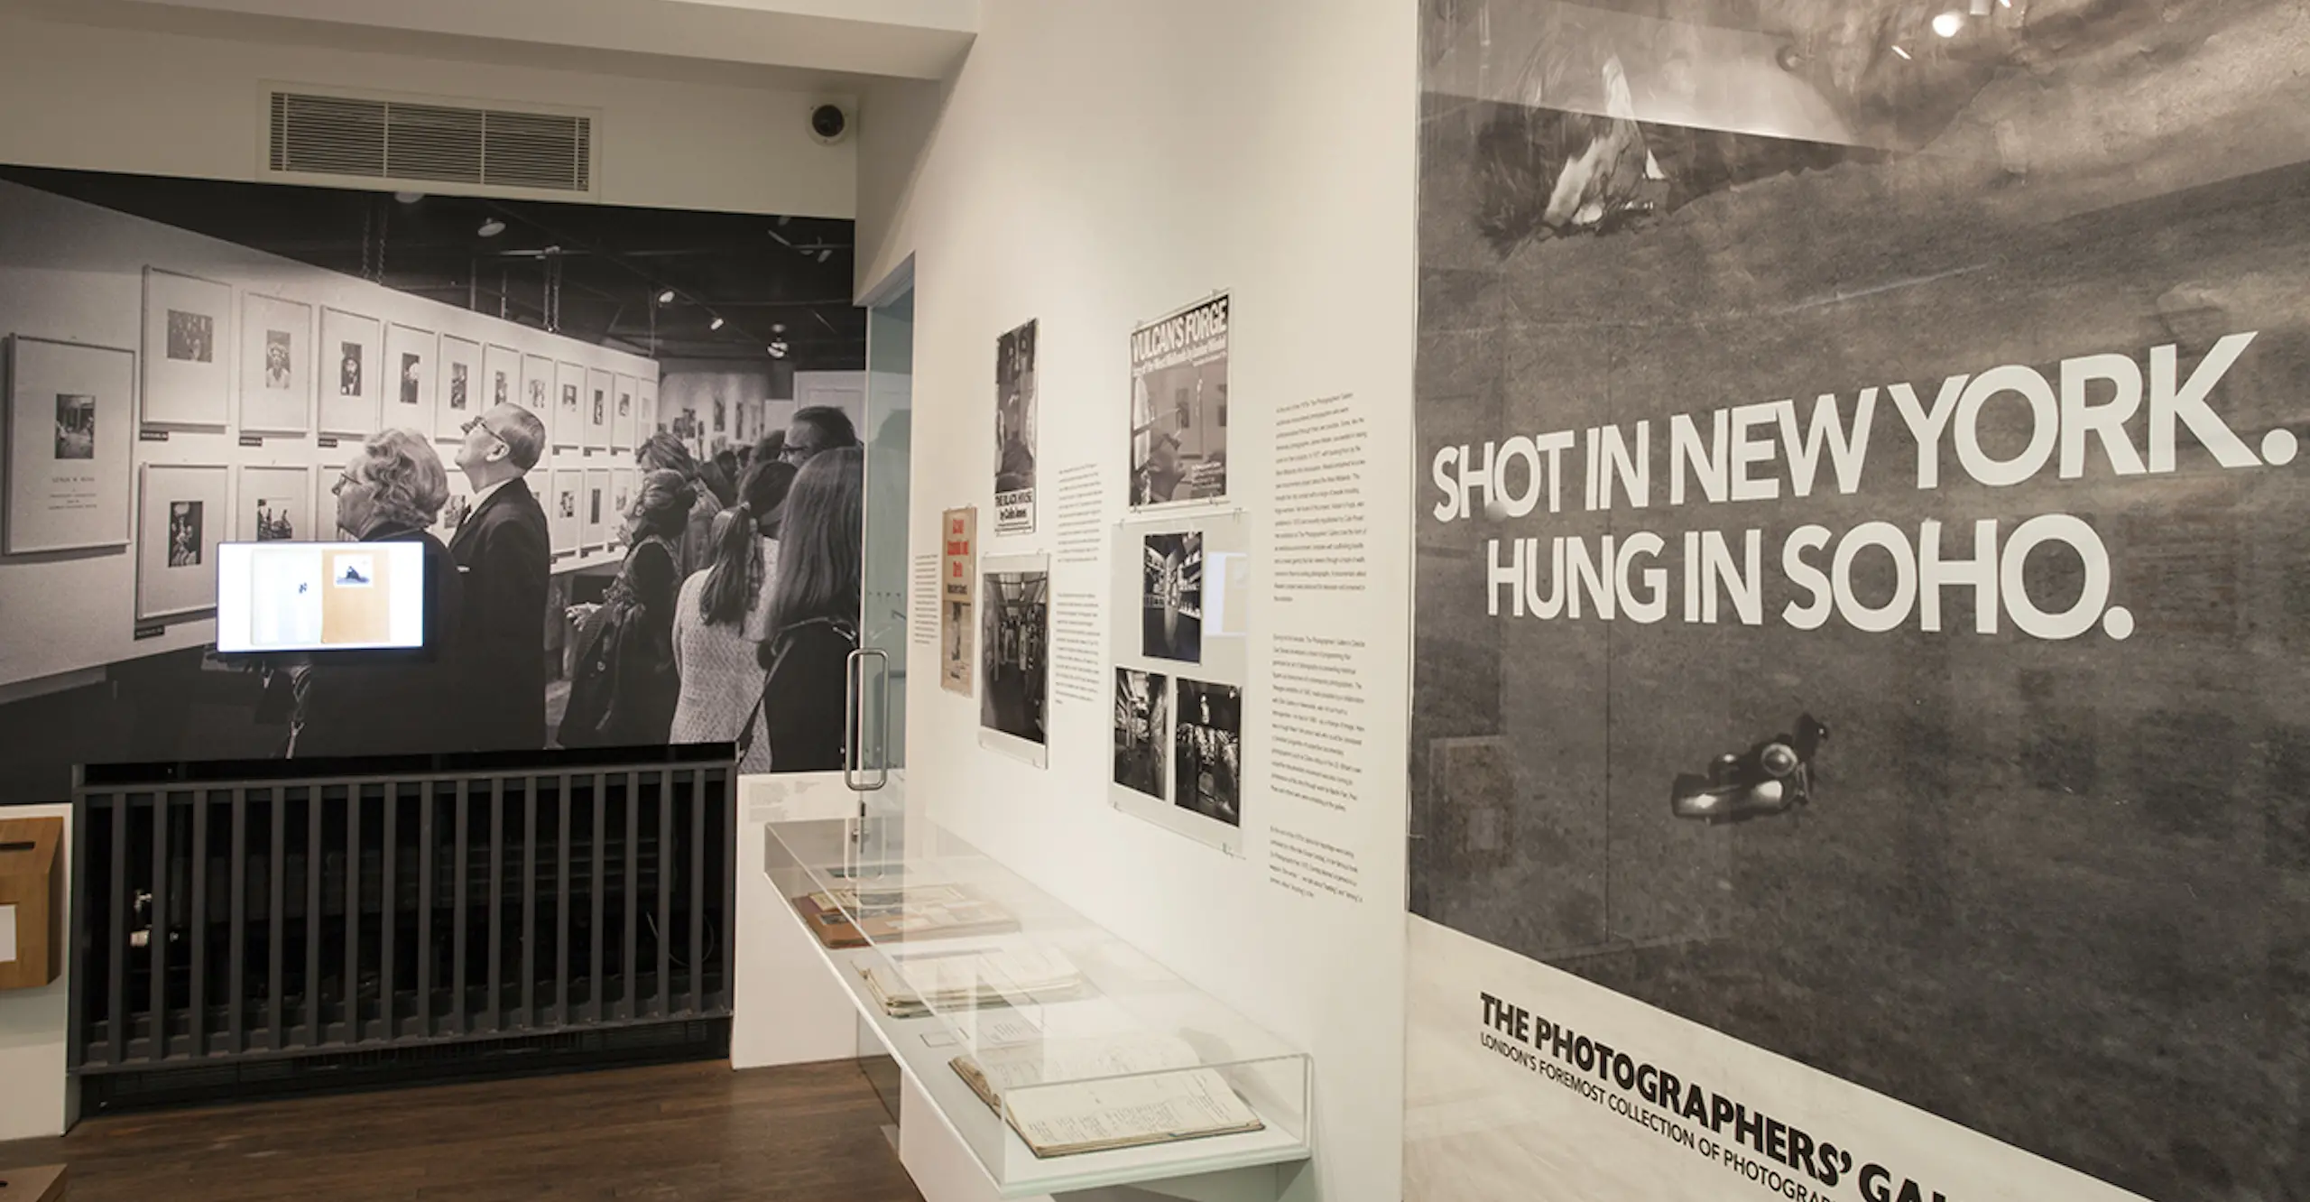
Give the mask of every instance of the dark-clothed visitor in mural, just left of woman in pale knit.
M 642 476 L 626 511 L 626 562 L 596 606 L 571 606 L 578 626 L 561 747 L 651 747 L 668 742 L 681 682 L 675 677 L 675 601 L 681 592 L 677 543 L 698 504 L 679 472 Z

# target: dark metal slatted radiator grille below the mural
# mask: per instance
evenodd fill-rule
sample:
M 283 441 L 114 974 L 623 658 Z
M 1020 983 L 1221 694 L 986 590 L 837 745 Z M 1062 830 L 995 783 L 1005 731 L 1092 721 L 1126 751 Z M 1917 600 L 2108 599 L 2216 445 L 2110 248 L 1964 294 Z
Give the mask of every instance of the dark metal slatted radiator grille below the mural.
M 72 1066 L 730 1012 L 730 765 L 81 786 Z

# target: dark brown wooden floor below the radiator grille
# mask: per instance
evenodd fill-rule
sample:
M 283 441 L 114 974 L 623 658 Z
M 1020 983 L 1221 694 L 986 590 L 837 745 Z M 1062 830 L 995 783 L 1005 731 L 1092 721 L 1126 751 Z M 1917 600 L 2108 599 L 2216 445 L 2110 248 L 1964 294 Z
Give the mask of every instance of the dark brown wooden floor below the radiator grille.
M 176 1110 L 0 1144 L 72 1202 L 919 1202 L 855 1063 L 621 1068 Z

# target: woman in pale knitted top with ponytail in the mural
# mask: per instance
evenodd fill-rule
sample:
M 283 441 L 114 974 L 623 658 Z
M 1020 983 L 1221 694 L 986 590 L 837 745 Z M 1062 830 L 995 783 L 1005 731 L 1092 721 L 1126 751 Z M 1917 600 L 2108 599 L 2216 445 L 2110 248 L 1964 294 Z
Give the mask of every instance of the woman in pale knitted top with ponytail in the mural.
M 675 673 L 681 700 L 668 742 L 739 742 L 742 772 L 769 772 L 769 740 L 760 730 L 762 663 L 769 599 L 778 569 L 778 522 L 795 483 L 795 467 L 776 460 L 746 472 L 737 509 L 714 548 L 714 564 L 681 583 L 675 603 Z M 829 698 L 832 703 L 832 698 Z

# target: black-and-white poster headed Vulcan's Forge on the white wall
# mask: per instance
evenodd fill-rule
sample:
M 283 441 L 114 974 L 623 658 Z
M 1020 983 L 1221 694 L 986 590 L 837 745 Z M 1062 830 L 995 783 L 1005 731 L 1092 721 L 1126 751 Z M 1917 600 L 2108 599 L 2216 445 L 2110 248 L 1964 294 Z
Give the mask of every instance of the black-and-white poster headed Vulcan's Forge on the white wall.
M 1227 497 L 1229 296 L 1132 331 L 1132 509 Z

